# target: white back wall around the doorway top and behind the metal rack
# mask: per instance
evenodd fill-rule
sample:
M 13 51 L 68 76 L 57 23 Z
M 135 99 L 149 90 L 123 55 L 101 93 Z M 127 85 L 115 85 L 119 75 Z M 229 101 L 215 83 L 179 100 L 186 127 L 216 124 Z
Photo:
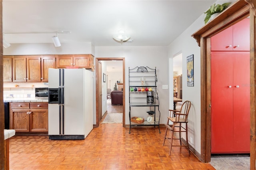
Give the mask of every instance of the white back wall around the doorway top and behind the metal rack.
M 129 79 L 128 72 L 130 68 L 136 66 L 148 66 L 150 68 L 156 67 L 158 83 L 157 91 L 160 99 L 160 124 L 166 123 L 166 118 L 168 115 L 168 89 L 162 89 L 162 85 L 168 85 L 168 55 L 167 47 L 164 46 L 115 46 L 115 47 L 95 47 L 95 57 L 124 57 L 125 58 L 125 82 L 126 82 L 126 93 L 125 93 L 125 124 L 129 124 Z M 134 108 L 133 108 L 134 109 Z M 142 107 L 137 107 L 136 110 L 144 109 L 140 113 L 136 113 L 136 116 L 146 118 L 148 114 Z M 148 109 L 148 108 L 147 108 Z M 148 111 L 148 110 L 147 110 Z M 139 115 L 141 114 L 141 115 Z

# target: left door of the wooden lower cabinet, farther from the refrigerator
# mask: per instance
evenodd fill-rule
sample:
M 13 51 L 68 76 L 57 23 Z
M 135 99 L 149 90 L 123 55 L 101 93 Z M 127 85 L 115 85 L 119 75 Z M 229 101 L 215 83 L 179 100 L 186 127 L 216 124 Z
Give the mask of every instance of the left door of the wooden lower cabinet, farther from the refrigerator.
M 10 109 L 10 129 L 29 132 L 29 109 Z

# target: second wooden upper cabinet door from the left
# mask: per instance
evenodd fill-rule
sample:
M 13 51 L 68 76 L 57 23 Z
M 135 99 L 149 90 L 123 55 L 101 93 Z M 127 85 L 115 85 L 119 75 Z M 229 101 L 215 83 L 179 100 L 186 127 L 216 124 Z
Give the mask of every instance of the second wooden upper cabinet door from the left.
M 15 56 L 12 58 L 12 78 L 14 82 L 26 81 L 26 57 Z

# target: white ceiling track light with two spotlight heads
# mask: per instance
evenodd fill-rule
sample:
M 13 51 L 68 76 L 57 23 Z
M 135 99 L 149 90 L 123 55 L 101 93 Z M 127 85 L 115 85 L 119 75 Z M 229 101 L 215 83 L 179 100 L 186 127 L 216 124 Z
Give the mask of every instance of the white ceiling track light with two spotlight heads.
M 55 47 L 60 47 L 60 40 L 58 38 L 58 34 L 67 34 L 67 33 L 71 33 L 70 31 L 55 31 L 55 32 L 4 32 L 3 34 L 56 34 L 56 36 L 52 36 L 52 41 L 54 43 Z M 3 39 L 3 45 L 5 45 L 5 40 Z M 6 48 L 10 46 L 8 46 L 8 42 L 6 42 Z M 4 46 L 5 47 L 5 46 Z

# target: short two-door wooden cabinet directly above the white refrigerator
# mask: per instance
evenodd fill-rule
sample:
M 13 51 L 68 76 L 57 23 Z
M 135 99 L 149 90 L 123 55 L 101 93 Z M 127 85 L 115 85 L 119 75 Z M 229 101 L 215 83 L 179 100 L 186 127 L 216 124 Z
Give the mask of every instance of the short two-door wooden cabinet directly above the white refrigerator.
M 58 68 L 65 67 L 92 67 L 92 55 L 91 54 L 70 54 L 70 55 L 58 55 L 56 57 L 56 63 Z

